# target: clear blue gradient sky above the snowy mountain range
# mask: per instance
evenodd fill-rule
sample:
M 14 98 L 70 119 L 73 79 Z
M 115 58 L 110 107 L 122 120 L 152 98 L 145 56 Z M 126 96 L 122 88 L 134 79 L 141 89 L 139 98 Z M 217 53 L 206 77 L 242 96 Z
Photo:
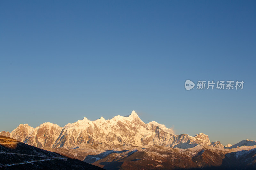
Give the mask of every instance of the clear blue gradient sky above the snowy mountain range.
M 0 131 L 129 115 L 256 140 L 255 1 L 1 1 Z M 185 80 L 244 80 L 190 90 Z

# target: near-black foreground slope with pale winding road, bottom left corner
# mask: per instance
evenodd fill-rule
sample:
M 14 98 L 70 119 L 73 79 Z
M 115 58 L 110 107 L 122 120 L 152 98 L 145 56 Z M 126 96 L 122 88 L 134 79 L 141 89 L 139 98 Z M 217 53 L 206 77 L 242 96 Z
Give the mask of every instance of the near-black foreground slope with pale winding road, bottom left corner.
M 97 166 L 0 136 L 0 169 L 101 169 Z

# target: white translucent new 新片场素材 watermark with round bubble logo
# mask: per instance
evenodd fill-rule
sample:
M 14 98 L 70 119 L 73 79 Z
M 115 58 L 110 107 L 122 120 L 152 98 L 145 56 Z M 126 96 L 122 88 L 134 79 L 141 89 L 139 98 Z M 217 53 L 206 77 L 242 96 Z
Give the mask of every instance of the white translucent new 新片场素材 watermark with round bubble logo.
M 186 80 L 185 82 L 185 88 L 186 90 L 191 90 L 194 89 L 195 83 L 193 81 L 190 80 Z M 218 89 L 218 90 L 242 90 L 244 86 L 244 81 L 232 81 L 232 80 L 228 80 L 228 81 L 203 81 L 203 80 L 198 80 L 197 81 L 197 85 L 196 85 L 196 89 L 197 90 L 214 90 L 214 89 Z

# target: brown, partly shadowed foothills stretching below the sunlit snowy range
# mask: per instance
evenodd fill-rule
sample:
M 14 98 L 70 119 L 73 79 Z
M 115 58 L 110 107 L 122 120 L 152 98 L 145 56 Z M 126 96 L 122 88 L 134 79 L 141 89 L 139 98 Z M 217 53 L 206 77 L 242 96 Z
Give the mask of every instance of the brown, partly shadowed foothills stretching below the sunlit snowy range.
M 124 146 L 108 149 L 77 147 L 75 149 L 46 150 L 74 155 L 77 159 L 102 167 L 114 169 L 255 169 L 256 146 L 216 148 L 196 146 L 189 149 L 165 146 Z

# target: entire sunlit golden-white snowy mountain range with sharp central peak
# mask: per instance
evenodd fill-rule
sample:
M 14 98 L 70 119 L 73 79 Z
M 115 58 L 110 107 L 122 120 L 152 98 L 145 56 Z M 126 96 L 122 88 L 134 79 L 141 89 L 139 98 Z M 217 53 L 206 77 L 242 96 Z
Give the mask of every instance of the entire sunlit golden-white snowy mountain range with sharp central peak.
M 86 117 L 64 127 L 57 124 L 43 123 L 33 128 L 28 124 L 20 124 L 11 133 L 2 131 L 0 135 L 14 138 L 25 144 L 36 147 L 70 149 L 79 144 L 99 146 L 111 144 L 160 145 L 173 148 L 192 148 L 195 146 L 213 146 L 224 148 L 219 141 L 210 142 L 203 133 L 195 136 L 188 134 L 175 135 L 171 129 L 155 121 L 144 123 L 135 111 L 129 116 L 117 115 L 110 120 L 103 117 L 89 121 Z

